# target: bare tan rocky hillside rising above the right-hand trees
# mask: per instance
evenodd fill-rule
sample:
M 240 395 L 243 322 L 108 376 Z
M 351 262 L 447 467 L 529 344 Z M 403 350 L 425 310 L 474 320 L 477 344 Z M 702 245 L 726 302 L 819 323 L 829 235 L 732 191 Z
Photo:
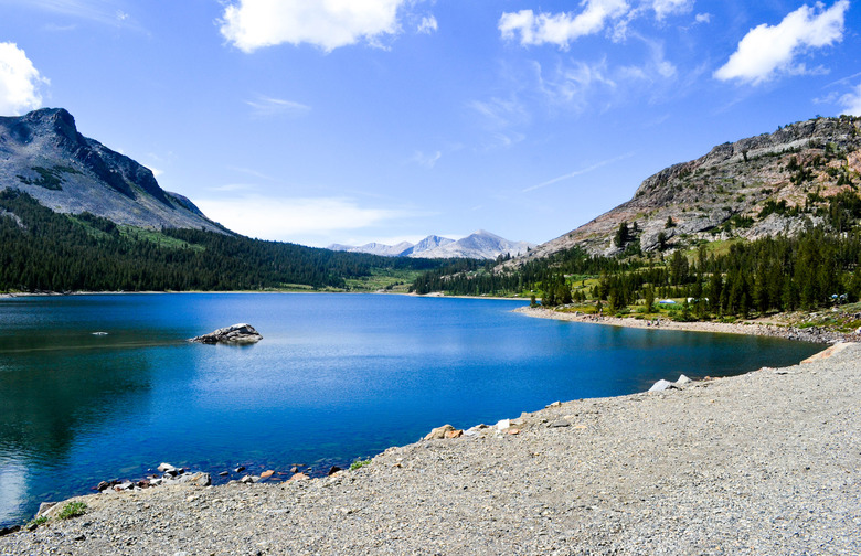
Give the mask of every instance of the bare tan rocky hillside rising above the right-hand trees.
M 821 226 L 828 197 L 861 181 L 861 118 L 816 118 L 714 147 L 647 178 L 634 199 L 511 261 L 580 246 L 595 255 L 628 247 L 687 247 L 698 239 L 757 239 Z M 628 242 L 616 245 L 621 223 Z M 635 226 L 636 224 L 636 226 Z

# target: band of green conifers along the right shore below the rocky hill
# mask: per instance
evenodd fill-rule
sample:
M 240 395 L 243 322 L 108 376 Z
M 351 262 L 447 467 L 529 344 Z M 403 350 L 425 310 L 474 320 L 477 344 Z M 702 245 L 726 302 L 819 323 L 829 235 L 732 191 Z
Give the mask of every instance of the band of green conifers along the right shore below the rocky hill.
M 811 228 L 796 237 L 732 244 L 720 255 L 700 246 L 690 257 L 676 250 L 657 259 L 593 256 L 574 247 L 519 268 L 496 267 L 464 261 L 433 269 L 413 290 L 536 295 L 550 307 L 588 300 L 613 312 L 684 298 L 692 300 L 685 311 L 697 318 L 809 310 L 861 299 L 861 232 Z M 584 287 L 586 277 L 597 280 Z

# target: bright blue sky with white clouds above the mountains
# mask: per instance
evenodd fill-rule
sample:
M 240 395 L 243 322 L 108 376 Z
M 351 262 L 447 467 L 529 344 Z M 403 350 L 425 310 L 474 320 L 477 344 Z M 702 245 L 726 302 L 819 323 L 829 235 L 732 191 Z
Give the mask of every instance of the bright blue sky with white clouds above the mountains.
M 542 243 L 715 145 L 861 115 L 857 3 L 0 0 L 0 114 L 64 107 L 253 237 Z

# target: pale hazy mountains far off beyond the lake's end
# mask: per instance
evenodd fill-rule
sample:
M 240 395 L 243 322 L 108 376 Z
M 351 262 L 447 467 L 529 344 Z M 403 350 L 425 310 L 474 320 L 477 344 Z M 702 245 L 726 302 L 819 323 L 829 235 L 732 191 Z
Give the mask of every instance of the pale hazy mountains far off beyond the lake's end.
M 535 247 L 535 244 L 529 242 L 511 242 L 483 229 L 479 229 L 478 232 L 457 240 L 429 235 L 417 244 L 402 242 L 397 245 L 370 243 L 360 246 L 340 244 L 332 244 L 329 246 L 332 250 L 370 253 L 386 257 L 472 259 L 495 259 L 500 255 L 517 257 L 518 255 L 525 255 L 527 252 L 533 247 Z

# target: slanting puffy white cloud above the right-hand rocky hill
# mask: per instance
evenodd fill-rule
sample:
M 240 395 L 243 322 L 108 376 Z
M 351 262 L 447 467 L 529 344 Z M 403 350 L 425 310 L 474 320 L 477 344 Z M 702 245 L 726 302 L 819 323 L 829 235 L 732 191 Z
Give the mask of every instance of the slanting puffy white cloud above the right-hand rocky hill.
M 821 2 L 812 8 L 805 4 L 775 26 L 763 23 L 752 29 L 726 64 L 714 72 L 714 77 L 757 85 L 780 73 L 809 73 L 804 64 L 794 64 L 793 61 L 808 49 L 840 42 L 843 39 L 843 15 L 848 9 L 849 0 L 839 0 L 827 10 Z

